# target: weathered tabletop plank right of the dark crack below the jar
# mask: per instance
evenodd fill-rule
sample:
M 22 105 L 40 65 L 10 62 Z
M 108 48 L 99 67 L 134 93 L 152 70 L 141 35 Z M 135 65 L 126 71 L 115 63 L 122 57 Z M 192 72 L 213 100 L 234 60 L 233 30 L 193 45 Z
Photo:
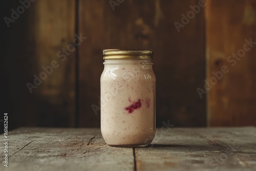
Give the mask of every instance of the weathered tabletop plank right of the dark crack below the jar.
M 137 170 L 255 170 L 256 128 L 158 129 Z

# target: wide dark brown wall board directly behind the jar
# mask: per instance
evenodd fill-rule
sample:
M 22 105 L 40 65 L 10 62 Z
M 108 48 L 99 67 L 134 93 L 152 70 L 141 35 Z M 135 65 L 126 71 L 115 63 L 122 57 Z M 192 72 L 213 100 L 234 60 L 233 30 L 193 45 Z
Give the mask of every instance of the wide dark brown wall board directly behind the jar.
M 109 1 L 80 1 L 80 31 L 88 39 L 80 50 L 80 126 L 98 127 L 103 49 L 154 51 L 157 126 L 205 126 L 205 97 L 197 94 L 205 78 L 204 10 L 181 28 L 181 14 L 198 1 L 127 0 L 112 10 Z M 86 115 L 87 114 L 87 115 Z

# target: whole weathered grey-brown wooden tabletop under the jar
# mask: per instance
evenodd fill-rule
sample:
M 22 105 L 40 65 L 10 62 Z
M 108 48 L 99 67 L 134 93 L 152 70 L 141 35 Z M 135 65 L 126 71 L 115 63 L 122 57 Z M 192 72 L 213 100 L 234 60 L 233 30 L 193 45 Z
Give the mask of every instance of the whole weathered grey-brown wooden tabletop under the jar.
M 0 170 L 256 170 L 256 128 L 157 129 L 153 144 L 110 147 L 100 129 L 20 128 L 9 132 Z

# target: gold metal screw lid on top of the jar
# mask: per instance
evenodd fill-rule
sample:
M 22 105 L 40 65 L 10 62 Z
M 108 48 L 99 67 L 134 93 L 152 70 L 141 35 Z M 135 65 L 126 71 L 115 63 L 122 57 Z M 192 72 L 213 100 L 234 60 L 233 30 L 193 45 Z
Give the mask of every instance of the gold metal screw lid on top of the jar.
M 103 59 L 153 59 L 153 51 L 139 49 L 106 49 Z

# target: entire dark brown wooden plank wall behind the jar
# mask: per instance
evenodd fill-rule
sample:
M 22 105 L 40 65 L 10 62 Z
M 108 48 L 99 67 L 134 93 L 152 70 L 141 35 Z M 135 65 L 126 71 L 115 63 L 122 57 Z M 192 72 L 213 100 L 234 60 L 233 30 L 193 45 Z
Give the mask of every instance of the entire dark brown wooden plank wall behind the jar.
M 175 126 L 256 125 L 256 47 L 202 98 L 197 92 L 245 38 L 256 41 L 256 4 L 208 0 L 178 32 L 174 22 L 198 3 L 124 0 L 113 11 L 109 0 L 37 0 L 9 28 L 3 19 L 1 103 L 9 125 L 99 127 L 100 111 L 92 104 L 99 105 L 102 50 L 112 48 L 154 51 L 157 126 L 168 120 Z M 18 6 L 2 2 L 2 18 Z M 62 61 L 57 54 L 76 33 L 87 39 Z M 53 60 L 59 67 L 30 94 L 26 83 Z

